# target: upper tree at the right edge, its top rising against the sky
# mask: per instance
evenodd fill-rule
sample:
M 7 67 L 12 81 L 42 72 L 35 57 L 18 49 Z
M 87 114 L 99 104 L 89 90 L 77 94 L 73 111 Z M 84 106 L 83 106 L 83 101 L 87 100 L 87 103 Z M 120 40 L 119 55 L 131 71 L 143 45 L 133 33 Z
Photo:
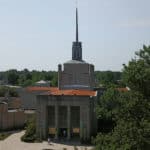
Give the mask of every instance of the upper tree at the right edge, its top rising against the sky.
M 143 96 L 150 97 L 150 46 L 143 46 L 136 52 L 136 59 L 124 65 L 123 79 L 132 89 L 141 92 Z

